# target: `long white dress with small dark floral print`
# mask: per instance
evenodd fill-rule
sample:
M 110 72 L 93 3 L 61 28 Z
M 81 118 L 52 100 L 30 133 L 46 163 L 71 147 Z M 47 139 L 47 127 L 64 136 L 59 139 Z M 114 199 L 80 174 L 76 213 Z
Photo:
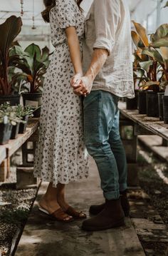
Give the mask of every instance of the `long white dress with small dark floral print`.
M 50 12 L 51 41 L 56 49 L 43 86 L 34 175 L 53 182 L 54 187 L 88 177 L 82 100 L 70 88 L 74 71 L 65 36 L 65 28 L 75 26 L 82 51 L 84 19 L 75 0 L 56 0 Z

